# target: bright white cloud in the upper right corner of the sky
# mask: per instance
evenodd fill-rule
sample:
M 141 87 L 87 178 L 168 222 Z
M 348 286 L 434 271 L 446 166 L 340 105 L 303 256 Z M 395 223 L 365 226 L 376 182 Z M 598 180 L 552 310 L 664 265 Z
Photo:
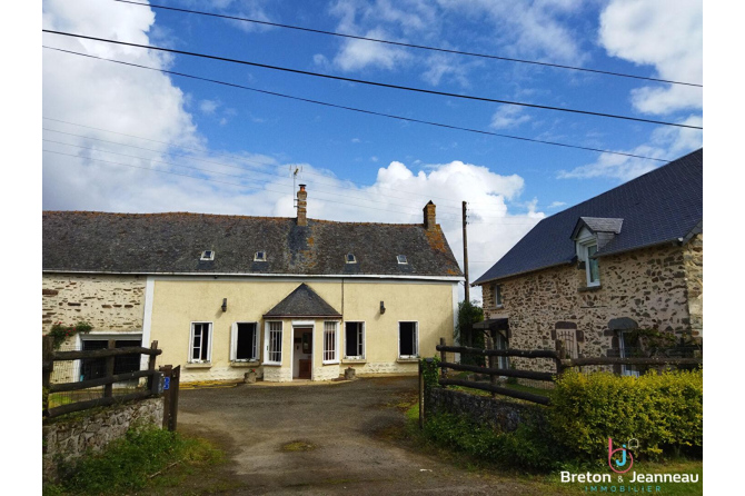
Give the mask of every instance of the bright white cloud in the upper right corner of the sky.
M 599 43 L 610 56 L 650 65 L 660 79 L 701 82 L 703 2 L 613 0 L 600 13 Z M 632 91 L 634 107 L 646 113 L 703 108 L 702 88 L 653 85 Z

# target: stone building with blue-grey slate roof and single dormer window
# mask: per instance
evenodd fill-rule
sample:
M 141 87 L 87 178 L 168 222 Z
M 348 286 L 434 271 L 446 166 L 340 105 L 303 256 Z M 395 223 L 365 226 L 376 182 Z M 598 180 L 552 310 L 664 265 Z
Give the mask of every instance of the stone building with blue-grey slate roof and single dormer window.
M 543 219 L 474 282 L 483 328 L 570 357 L 629 356 L 639 334 L 703 346 L 703 165 L 699 149 Z

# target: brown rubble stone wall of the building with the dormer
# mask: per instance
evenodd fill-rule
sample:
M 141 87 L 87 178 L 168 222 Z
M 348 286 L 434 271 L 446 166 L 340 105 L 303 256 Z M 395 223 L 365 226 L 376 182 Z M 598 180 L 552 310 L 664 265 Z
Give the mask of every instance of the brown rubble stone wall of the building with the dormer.
M 686 334 L 692 330 L 691 287 L 696 287 L 687 274 L 702 269 L 695 248 L 665 245 L 602 257 L 599 287 L 586 287 L 584 264 L 505 279 L 500 308 L 495 308 L 493 286 L 483 285 L 485 318 L 509 318 L 510 348 L 554 349 L 557 329 L 576 329 L 578 354 L 587 357 L 606 356 L 618 346 L 612 319 Z M 552 360 L 510 360 L 516 368 L 556 369 Z

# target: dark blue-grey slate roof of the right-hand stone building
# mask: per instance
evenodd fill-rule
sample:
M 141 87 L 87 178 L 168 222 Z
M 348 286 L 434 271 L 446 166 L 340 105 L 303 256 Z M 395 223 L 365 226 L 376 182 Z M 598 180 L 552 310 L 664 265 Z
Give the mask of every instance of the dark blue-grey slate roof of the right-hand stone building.
M 543 219 L 474 284 L 572 264 L 572 234 L 580 217 L 623 219 L 598 257 L 686 240 L 703 230 L 704 149 Z

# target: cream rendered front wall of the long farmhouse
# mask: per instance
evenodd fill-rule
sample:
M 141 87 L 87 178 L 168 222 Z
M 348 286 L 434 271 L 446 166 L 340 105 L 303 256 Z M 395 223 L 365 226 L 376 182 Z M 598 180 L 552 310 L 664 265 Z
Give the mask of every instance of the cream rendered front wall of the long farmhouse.
M 455 279 L 455 278 L 454 278 Z M 281 364 L 267 359 L 264 315 L 306 282 L 341 314 L 341 319 L 281 318 Z M 222 301 L 227 299 L 227 309 Z M 380 302 L 385 313 L 380 311 Z M 415 374 L 417 360 L 399 358 L 399 323 L 417 323 L 418 355 L 435 355 L 444 337 L 451 343 L 457 308 L 457 280 L 298 277 L 188 277 L 150 276 L 147 280 L 143 341 L 158 340 L 163 354 L 158 365 L 182 367 L 181 380 L 240 379 L 249 368 L 267 381 L 292 380 L 295 328 L 312 329 L 311 380 L 339 377 L 354 367 L 358 375 Z M 337 321 L 338 363 L 324 364 L 324 323 Z M 344 358 L 346 321 L 364 323 L 365 357 Z M 210 323 L 209 363 L 190 363 L 192 323 Z M 231 328 L 235 323 L 257 323 L 259 359 L 231 361 Z

